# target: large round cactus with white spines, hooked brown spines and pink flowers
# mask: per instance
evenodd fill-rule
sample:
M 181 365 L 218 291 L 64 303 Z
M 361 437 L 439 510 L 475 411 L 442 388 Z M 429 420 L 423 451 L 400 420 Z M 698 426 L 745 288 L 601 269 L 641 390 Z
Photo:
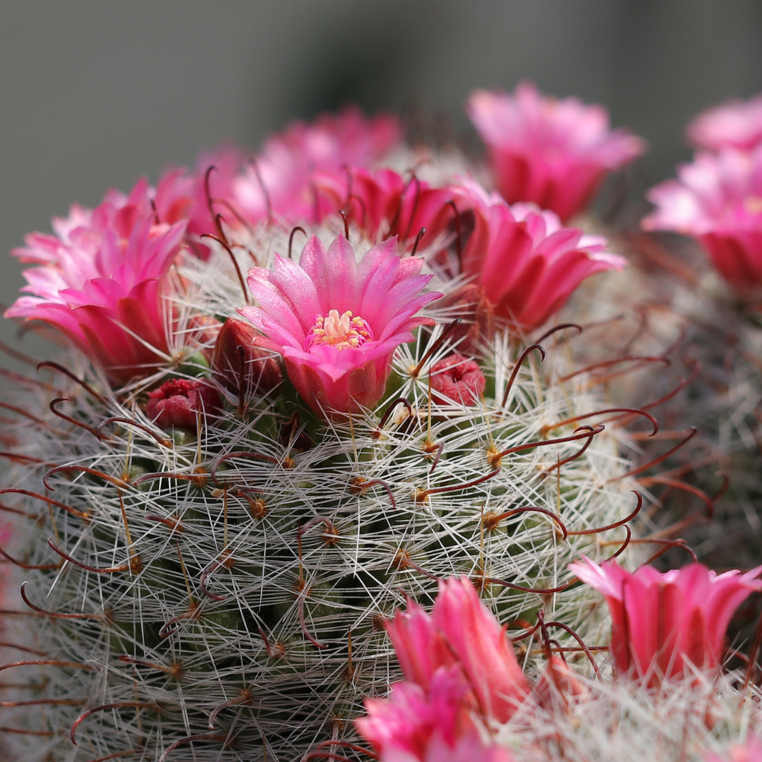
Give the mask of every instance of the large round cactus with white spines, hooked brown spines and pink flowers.
M 441 222 L 428 238 L 398 238 L 389 213 L 372 229 L 357 210 L 298 228 L 228 213 L 203 239 L 187 233 L 129 296 L 117 287 L 132 287 L 144 250 L 104 260 L 108 218 L 82 248 L 101 270 L 97 282 L 79 274 L 75 303 L 66 283 L 31 281 L 37 312 L 9 314 L 56 303 L 75 348 L 43 363 L 50 383 L 15 377 L 3 403 L 17 418 L 2 494 L 18 517 L 3 551 L 24 581 L 6 614 L 22 658 L 4 668 L 28 676 L 4 689 L 11 758 L 171 760 L 193 744 L 197 759 L 292 760 L 349 742 L 362 700 L 385 695 L 396 673 L 384 621 L 405 597 L 430 603 L 450 575 L 472 579 L 511 629 L 542 609 L 600 636 L 595 594 L 570 585 L 567 565 L 625 549 L 642 503 L 626 434 L 600 386 L 568 367 L 546 313 L 521 322 L 545 348 L 517 335 L 507 315 L 518 282 L 491 331 L 457 325 L 483 302 L 463 297 L 457 264 L 475 256 L 464 188 L 431 194 L 440 207 L 428 219 Z M 500 204 L 496 215 L 523 224 Z M 134 223 L 141 241 L 168 235 L 155 208 Z M 554 309 L 601 263 L 623 264 L 600 240 L 521 214 L 543 228 L 532 272 L 564 258 L 579 270 Z M 46 239 L 43 272 L 62 267 L 89 219 Z M 510 259 L 510 241 L 501 246 Z M 527 274 L 522 298 L 539 299 L 538 283 Z M 102 319 L 80 341 L 69 322 L 85 297 Z M 158 338 L 120 318 L 125 298 L 161 313 Z M 146 357 L 104 354 L 112 338 Z M 559 630 L 559 642 L 571 637 Z

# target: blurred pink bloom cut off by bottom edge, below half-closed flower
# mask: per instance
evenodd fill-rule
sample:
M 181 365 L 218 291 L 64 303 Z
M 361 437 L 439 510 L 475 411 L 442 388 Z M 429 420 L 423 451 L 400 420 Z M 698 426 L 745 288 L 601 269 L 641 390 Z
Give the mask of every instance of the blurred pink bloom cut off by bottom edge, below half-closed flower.
M 463 674 L 442 667 L 425 690 L 396 683 L 389 700 L 367 699 L 357 729 L 380 752 L 381 762 L 510 762 L 505 749 L 479 738 L 475 706 Z

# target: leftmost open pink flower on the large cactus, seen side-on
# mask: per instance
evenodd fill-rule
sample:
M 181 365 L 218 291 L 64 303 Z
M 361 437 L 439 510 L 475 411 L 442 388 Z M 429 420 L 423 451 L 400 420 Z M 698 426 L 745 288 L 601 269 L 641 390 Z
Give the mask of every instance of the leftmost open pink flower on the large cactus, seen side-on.
M 95 210 L 74 206 L 53 219 L 56 235 L 32 233 L 11 252 L 39 267 L 24 271 L 22 290 L 34 296 L 5 316 L 55 326 L 116 383 L 148 375 L 168 353 L 162 293 L 185 223 L 155 224 L 151 196 L 145 180 L 129 197 L 110 191 Z

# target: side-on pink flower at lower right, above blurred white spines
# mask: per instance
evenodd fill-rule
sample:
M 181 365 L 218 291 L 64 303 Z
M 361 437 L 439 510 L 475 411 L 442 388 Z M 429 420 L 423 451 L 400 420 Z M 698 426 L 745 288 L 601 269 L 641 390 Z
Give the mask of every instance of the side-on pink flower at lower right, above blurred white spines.
M 733 612 L 754 591 L 762 566 L 716 575 L 703 564 L 664 574 L 641 566 L 634 574 L 616 562 L 583 562 L 569 568 L 600 591 L 611 613 L 611 653 L 620 674 L 634 672 L 649 685 L 680 677 L 684 664 L 714 671 L 722 658 Z

